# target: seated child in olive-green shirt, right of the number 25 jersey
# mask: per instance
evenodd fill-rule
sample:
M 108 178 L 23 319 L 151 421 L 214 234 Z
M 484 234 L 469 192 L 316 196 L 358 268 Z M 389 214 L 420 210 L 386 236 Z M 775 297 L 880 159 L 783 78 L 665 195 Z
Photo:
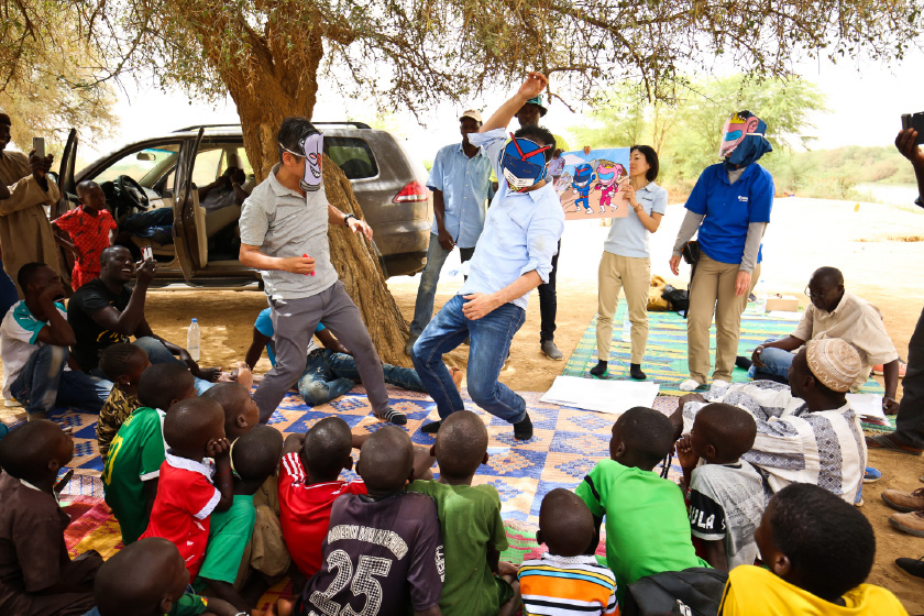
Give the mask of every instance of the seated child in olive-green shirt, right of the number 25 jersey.
M 475 471 L 487 462 L 484 422 L 471 410 L 453 413 L 440 425 L 433 454 L 440 465 L 439 481 L 416 481 L 408 491 L 437 503 L 447 572 L 440 610 L 446 616 L 495 616 L 498 609 L 502 615 L 512 614 L 519 601 L 509 583 L 516 568 L 499 563 L 501 552 L 507 549 L 501 496 L 493 485 L 472 486 Z M 495 575 L 498 564 L 508 580 Z

